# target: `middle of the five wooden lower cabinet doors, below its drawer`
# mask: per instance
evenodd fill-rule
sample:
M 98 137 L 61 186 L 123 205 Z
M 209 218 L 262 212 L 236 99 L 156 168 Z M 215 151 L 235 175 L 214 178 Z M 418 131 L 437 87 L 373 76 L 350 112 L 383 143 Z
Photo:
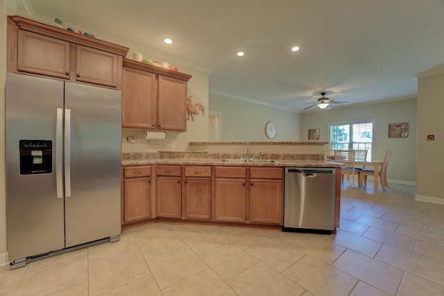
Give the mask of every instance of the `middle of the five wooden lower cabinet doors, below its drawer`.
M 185 218 L 211 219 L 211 178 L 185 179 Z

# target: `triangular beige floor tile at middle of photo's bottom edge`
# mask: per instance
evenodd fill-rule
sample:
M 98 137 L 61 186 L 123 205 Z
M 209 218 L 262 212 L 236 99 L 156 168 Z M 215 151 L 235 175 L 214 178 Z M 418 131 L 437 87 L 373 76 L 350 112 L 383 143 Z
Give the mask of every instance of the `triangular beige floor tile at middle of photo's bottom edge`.
M 237 295 L 210 269 L 198 272 L 178 284 L 162 290 L 164 296 L 230 296 Z

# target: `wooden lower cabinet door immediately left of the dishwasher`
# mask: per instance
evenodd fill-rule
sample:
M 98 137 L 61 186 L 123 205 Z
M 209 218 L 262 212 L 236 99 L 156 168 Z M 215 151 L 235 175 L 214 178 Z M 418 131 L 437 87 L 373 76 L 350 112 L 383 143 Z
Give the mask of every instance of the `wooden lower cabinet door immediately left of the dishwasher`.
M 250 222 L 283 223 L 282 180 L 250 180 Z

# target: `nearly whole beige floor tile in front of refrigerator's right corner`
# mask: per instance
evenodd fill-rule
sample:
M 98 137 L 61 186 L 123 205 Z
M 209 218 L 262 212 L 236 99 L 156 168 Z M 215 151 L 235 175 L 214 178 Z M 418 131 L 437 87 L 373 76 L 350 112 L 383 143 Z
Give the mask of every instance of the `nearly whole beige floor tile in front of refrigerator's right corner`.
M 150 275 L 144 257 L 137 250 L 113 258 L 89 260 L 89 295 L 99 295 Z

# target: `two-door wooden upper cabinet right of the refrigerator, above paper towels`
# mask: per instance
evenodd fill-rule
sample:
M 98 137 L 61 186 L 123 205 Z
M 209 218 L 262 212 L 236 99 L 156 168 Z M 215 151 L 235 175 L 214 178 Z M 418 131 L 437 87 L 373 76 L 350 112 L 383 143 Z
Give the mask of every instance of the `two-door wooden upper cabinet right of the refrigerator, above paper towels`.
M 190 78 L 185 73 L 123 60 L 122 127 L 185 132 Z

